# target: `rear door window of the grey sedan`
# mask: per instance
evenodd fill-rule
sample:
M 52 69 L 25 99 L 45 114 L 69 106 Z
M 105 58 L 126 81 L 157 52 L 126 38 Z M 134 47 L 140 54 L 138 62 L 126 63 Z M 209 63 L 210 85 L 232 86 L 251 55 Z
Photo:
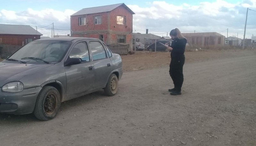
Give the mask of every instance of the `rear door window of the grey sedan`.
M 91 41 L 91 42 L 89 42 L 89 46 L 92 51 L 93 60 L 107 58 L 105 49 L 100 42 Z

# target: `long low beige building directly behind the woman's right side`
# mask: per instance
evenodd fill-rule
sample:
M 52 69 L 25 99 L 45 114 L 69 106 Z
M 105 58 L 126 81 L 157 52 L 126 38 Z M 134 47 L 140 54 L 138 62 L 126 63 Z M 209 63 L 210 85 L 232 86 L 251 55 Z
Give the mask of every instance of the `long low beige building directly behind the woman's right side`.
M 216 32 L 182 33 L 187 42 L 196 47 L 215 47 L 225 44 L 225 36 Z

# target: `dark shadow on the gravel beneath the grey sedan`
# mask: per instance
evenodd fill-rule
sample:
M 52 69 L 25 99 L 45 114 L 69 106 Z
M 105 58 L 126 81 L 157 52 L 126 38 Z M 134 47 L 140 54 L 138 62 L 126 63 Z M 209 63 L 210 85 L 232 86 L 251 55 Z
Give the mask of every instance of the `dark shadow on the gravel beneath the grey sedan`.
M 68 112 L 70 109 L 77 106 L 77 104 L 90 104 L 95 100 L 104 99 L 108 96 L 104 94 L 104 90 L 99 90 L 84 96 L 80 96 L 74 99 L 70 99 L 68 101 L 62 102 L 60 104 L 60 110 L 63 112 Z M 54 119 L 53 119 L 54 120 Z M 25 114 L 25 115 L 13 115 L 13 114 L 4 114 L 0 113 L 0 125 L 10 125 L 10 124 L 21 124 L 21 123 L 28 123 L 28 122 L 44 122 L 38 120 L 33 113 Z

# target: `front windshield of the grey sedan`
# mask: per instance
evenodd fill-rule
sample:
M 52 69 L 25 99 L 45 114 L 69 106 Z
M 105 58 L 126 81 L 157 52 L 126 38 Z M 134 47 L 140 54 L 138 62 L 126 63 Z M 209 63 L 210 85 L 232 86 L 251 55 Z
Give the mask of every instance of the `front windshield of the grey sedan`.
M 8 59 L 26 62 L 59 62 L 70 44 L 70 41 L 33 41 L 20 48 Z

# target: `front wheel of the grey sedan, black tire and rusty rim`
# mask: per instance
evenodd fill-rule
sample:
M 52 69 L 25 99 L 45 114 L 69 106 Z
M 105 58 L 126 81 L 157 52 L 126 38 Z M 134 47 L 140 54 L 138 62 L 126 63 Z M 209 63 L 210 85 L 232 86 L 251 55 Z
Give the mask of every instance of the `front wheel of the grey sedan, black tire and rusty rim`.
M 37 119 L 53 119 L 60 109 L 60 93 L 52 86 L 45 86 L 36 99 L 34 115 Z

